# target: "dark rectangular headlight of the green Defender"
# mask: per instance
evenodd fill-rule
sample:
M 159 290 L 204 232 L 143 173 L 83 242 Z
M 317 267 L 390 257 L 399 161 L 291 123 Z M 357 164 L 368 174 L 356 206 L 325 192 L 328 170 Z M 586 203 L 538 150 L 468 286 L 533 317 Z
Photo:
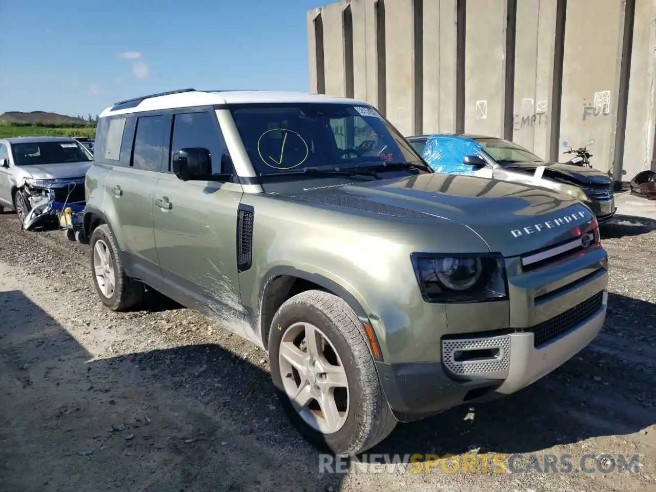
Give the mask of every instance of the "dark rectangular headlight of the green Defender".
M 501 257 L 415 253 L 411 259 L 426 302 L 483 302 L 508 297 Z

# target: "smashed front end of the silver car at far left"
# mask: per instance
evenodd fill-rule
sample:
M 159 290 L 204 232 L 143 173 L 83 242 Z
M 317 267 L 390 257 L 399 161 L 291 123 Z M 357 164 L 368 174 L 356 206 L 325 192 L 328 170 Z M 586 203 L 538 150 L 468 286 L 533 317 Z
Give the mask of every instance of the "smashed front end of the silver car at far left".
M 25 230 L 58 222 L 66 208 L 82 212 L 85 205 L 84 177 L 49 180 L 23 179 L 18 190 L 25 197 Z

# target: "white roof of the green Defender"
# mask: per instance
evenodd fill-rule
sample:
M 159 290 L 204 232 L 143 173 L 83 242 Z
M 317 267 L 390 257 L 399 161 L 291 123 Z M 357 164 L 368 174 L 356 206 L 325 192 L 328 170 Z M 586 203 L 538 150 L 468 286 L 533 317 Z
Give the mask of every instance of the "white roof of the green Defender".
M 369 103 L 350 98 L 307 94 L 305 92 L 275 91 L 181 91 L 162 92 L 117 102 L 106 108 L 99 117 L 136 113 L 143 111 L 190 108 L 194 106 L 214 106 L 220 104 L 257 104 L 269 102 L 336 102 L 369 106 Z

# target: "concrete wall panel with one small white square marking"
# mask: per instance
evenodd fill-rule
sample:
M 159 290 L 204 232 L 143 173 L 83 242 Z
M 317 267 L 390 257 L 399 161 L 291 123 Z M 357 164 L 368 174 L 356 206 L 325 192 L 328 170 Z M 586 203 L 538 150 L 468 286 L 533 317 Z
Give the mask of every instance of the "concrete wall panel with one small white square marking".
M 466 133 L 503 136 L 505 0 L 467 2 L 465 55 Z

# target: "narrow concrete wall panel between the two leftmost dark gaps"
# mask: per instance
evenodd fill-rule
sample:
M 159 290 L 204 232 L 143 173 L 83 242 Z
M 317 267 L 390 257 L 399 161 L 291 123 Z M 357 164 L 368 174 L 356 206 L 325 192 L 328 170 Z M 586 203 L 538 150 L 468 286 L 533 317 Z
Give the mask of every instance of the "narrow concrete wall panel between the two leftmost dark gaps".
M 346 96 L 344 6 L 344 2 L 338 2 L 321 9 L 325 90 L 326 94 L 341 97 Z

